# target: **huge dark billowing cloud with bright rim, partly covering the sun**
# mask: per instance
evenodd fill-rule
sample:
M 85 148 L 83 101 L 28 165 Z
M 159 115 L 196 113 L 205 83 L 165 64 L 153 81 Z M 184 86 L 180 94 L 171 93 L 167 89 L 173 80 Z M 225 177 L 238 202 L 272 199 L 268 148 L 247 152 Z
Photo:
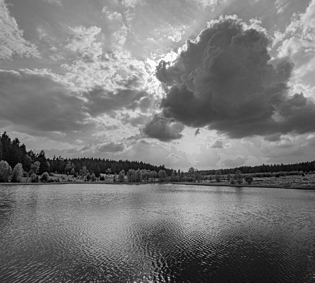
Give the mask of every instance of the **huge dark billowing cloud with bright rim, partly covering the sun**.
M 268 64 L 269 43 L 265 33 L 244 30 L 233 19 L 188 40 L 173 65 L 161 61 L 157 67 L 167 92 L 161 116 L 231 138 L 314 131 L 315 104 L 302 93 L 288 96 L 293 64 Z

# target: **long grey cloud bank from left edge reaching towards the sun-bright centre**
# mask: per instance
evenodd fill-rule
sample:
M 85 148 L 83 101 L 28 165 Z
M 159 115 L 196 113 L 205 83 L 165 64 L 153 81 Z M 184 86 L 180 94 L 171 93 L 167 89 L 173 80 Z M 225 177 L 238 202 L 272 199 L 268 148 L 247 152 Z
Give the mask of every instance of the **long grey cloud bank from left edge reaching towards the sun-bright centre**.
M 99 127 L 91 117 L 104 113 L 116 116 L 117 110 L 138 107 L 146 112 L 150 95 L 146 91 L 120 88 L 110 91 L 102 87 L 81 93 L 62 77 L 45 70 L 0 70 L 0 122 L 9 121 L 20 130 L 40 136 L 49 132 L 66 133 L 69 139 L 72 134 L 89 136 Z M 132 124 L 139 123 L 138 120 Z

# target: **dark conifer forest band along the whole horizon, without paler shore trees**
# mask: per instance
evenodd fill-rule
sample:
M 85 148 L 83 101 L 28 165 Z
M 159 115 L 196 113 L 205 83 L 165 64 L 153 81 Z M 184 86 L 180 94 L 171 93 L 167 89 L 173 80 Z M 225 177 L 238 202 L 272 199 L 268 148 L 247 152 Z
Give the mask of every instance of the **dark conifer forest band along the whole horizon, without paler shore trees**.
M 35 153 L 33 150 L 27 151 L 26 145 L 21 144 L 18 138 L 11 140 L 9 135 L 4 132 L 0 135 L 0 161 L 8 162 L 11 168 L 14 168 L 16 164 L 20 163 L 23 167 L 24 172 L 36 172 L 37 175 L 42 175 L 44 172 L 47 173 L 67 173 L 74 171 L 79 173 L 83 167 L 90 174 L 95 174 L 99 177 L 103 174 L 119 174 L 122 170 L 128 172 L 131 170 L 150 170 L 156 171 L 157 174 L 160 170 L 165 171 L 166 176 L 177 176 L 191 177 L 193 175 L 202 176 L 215 175 L 215 170 L 200 170 L 195 168 L 189 168 L 187 172 L 180 172 L 174 169 L 165 168 L 164 165 L 156 166 L 143 161 L 130 161 L 130 160 L 112 160 L 112 159 L 101 159 L 93 157 L 83 158 L 63 158 L 61 156 L 49 159 L 46 157 L 45 151 L 41 150 L 39 153 Z M 38 165 L 38 168 L 36 167 Z M 37 169 L 34 169 L 37 168 Z M 72 170 L 74 169 L 74 170 Z M 270 165 L 258 165 L 258 166 L 241 166 L 230 169 L 220 169 L 222 175 L 235 174 L 236 171 L 240 171 L 243 174 L 253 173 L 277 173 L 277 172 L 291 172 L 291 171 L 303 171 L 309 172 L 315 170 L 315 161 L 300 162 L 294 164 L 270 164 Z

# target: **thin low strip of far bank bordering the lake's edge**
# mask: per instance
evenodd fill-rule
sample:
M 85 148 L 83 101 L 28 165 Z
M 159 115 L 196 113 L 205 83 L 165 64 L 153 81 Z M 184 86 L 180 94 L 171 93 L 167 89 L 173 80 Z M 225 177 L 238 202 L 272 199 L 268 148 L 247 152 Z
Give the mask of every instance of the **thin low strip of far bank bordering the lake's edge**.
M 175 185 L 194 185 L 210 187 L 249 187 L 249 188 L 274 188 L 274 189 L 294 189 L 294 190 L 315 190 L 315 187 L 297 186 L 278 186 L 278 185 L 249 185 L 249 184 L 220 184 L 220 183 L 190 183 L 190 182 L 138 182 L 138 183 L 119 183 L 119 182 L 51 182 L 51 183 L 0 183 L 0 185 L 22 186 L 22 185 L 64 185 L 64 184 L 107 184 L 107 185 L 143 185 L 143 184 L 175 184 Z

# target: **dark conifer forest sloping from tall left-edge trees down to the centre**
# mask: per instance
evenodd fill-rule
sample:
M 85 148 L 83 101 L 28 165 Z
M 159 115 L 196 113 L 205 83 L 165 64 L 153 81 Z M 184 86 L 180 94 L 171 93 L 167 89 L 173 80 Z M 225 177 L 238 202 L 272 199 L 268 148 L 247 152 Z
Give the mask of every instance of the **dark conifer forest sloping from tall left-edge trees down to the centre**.
M 149 174 L 149 177 L 146 177 L 146 179 L 153 180 L 161 170 L 165 172 L 166 176 L 170 176 L 174 171 L 173 169 L 165 168 L 164 164 L 156 166 L 143 161 L 116 161 L 93 157 L 63 158 L 61 156 L 54 156 L 50 159 L 46 157 L 44 150 L 41 150 L 39 153 L 35 153 L 33 150 L 27 151 L 25 144 L 21 144 L 18 138 L 12 140 L 6 132 L 0 135 L 0 161 L 7 162 L 8 166 L 11 168 L 10 174 L 12 173 L 12 168 L 17 164 L 21 164 L 24 175 L 26 172 L 29 176 L 33 173 L 35 175 L 43 175 L 43 173 L 47 172 L 48 174 L 69 173 L 78 177 L 81 172 L 81 176 L 82 174 L 86 176 L 87 173 L 89 173 L 89 176 L 94 174 L 96 178 L 99 178 L 101 174 L 116 173 L 118 175 L 122 171 L 131 174 L 130 170 L 137 171 L 139 169 L 146 170 Z M 82 170 L 84 171 L 83 173 Z M 150 172 L 152 172 L 151 175 Z M 155 174 L 154 178 L 152 174 L 153 176 Z

